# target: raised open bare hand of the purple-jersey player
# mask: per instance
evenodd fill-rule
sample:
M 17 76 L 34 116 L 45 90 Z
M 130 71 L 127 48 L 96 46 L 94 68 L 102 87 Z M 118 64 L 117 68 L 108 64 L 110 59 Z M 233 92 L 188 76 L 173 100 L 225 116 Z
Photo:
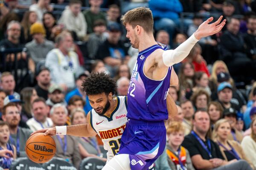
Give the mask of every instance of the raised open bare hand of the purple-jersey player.
M 207 36 L 216 34 L 219 31 L 221 31 L 221 29 L 226 24 L 226 19 L 221 22 L 222 18 L 223 18 L 223 16 L 221 15 L 217 21 L 215 21 L 214 23 L 211 23 L 211 24 L 209 24 L 209 23 L 212 22 L 213 17 L 208 18 L 195 31 L 195 38 L 200 40 L 202 37 L 207 37 Z

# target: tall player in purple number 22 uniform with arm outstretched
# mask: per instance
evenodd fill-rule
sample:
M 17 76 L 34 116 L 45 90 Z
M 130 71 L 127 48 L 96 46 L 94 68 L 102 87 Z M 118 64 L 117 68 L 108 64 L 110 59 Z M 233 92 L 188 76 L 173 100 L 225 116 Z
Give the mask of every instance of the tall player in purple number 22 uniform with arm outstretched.
M 150 9 L 135 8 L 122 16 L 126 37 L 140 53 L 128 89 L 128 122 L 121 147 L 102 170 L 147 170 L 163 153 L 166 145 L 163 120 L 168 119 L 166 97 L 172 65 L 181 62 L 202 37 L 221 31 L 226 22 L 221 19 L 222 16 L 209 24 L 213 20 L 210 17 L 175 50 L 165 51 L 154 40 Z

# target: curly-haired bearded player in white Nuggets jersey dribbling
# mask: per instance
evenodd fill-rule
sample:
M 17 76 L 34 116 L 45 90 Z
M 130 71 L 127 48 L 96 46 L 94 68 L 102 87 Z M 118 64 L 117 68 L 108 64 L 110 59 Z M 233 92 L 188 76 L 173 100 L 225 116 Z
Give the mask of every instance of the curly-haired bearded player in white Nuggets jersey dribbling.
M 176 76 L 175 74 L 173 77 Z M 67 134 L 81 137 L 98 134 L 102 139 L 104 149 L 108 150 L 107 158 L 109 161 L 119 151 L 121 136 L 125 130 L 127 96 L 113 97 L 113 94 L 116 93 L 116 82 L 105 73 L 91 74 L 85 79 L 82 86 L 93 108 L 87 114 L 88 124 L 57 126 L 37 130 L 34 133 L 43 132 L 45 135 L 51 136 Z M 174 100 L 170 97 L 168 102 L 170 114 L 175 114 L 177 108 Z

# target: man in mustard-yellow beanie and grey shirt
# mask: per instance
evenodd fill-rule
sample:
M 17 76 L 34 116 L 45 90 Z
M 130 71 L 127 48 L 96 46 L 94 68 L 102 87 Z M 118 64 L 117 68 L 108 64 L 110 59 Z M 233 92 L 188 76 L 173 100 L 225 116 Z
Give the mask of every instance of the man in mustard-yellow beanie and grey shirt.
M 33 40 L 26 43 L 25 47 L 28 49 L 28 53 L 35 62 L 35 65 L 37 65 L 37 63 L 44 60 L 48 52 L 54 48 L 54 43 L 46 40 L 45 29 L 41 23 L 32 24 L 30 27 L 30 34 L 32 35 Z

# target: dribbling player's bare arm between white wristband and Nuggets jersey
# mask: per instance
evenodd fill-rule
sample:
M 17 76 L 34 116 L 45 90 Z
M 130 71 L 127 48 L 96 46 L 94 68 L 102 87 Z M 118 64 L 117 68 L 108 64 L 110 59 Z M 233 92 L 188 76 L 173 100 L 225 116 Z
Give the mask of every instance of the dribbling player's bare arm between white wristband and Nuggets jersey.
M 67 135 L 87 137 L 92 136 L 87 130 L 88 124 L 70 125 L 67 126 Z

